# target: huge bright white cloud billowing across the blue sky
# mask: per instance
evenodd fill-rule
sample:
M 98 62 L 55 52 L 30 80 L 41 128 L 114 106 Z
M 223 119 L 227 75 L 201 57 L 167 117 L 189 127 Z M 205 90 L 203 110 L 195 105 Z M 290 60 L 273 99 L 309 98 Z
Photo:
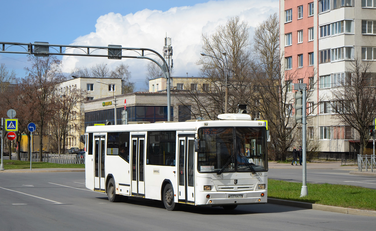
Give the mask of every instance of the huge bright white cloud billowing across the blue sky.
M 173 7 L 164 12 L 144 9 L 124 16 L 108 13 L 97 19 L 95 32 L 80 36 L 73 44 L 92 46 L 115 44 L 123 47 L 150 48 L 162 53 L 167 33 L 174 51 L 174 75 L 185 76 L 188 72 L 189 76 L 197 76 L 199 66 L 195 63 L 200 58 L 202 33 L 210 35 L 218 26 L 226 24 L 229 18 L 238 15 L 251 26 L 250 35 L 253 36 L 254 27 L 270 14 L 278 12 L 278 4 L 278 0 L 224 0 Z M 133 51 L 123 51 L 123 55 L 137 54 Z M 120 62 L 127 63 L 132 72 L 132 80 L 136 80 L 138 88 L 142 87 L 145 66 L 150 62 L 145 59 L 109 60 L 78 56 L 64 56 L 62 61 L 64 72 L 70 72 L 75 67 L 89 67 L 95 63 L 108 63 L 110 69 L 114 69 Z

